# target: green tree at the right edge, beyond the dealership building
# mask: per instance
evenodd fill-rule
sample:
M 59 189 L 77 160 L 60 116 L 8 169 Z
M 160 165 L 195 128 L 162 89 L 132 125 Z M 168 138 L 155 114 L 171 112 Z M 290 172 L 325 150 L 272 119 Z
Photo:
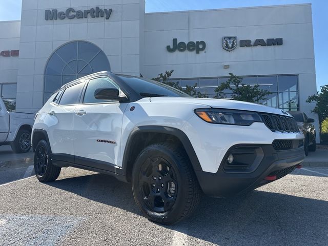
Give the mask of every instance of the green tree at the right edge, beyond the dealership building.
M 321 134 L 322 122 L 328 117 L 328 85 L 320 86 L 320 90 L 316 95 L 309 96 L 306 103 L 316 103 L 311 112 L 318 114 Z

